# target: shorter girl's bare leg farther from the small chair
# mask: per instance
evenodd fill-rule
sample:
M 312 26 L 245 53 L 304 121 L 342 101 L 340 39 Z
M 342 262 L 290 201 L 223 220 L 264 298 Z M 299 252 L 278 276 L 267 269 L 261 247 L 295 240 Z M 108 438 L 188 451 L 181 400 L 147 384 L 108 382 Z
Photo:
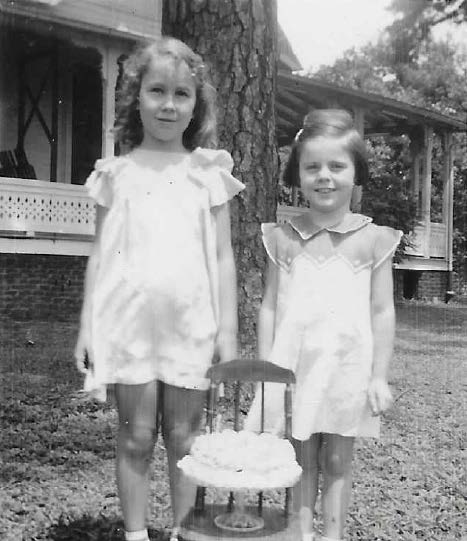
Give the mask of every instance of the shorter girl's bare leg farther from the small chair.
M 355 438 L 323 434 L 324 535 L 342 539 L 352 490 L 352 457 Z

